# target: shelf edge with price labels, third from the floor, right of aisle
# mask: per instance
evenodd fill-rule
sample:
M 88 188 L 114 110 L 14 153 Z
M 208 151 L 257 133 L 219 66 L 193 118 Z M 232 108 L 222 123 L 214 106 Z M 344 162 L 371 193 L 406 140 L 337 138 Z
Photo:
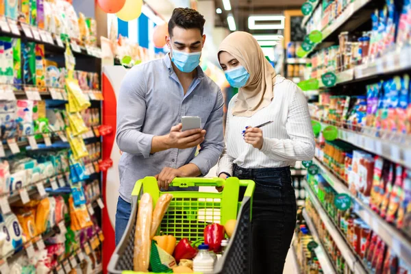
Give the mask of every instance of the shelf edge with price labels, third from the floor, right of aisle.
M 319 166 L 321 175 L 323 175 L 324 179 L 336 190 L 336 192 L 342 193 L 339 190 L 344 190 L 345 188 L 346 191 L 343 191 L 343 193 L 349 194 L 345 184 L 334 176 L 326 166 L 316 159 L 314 159 L 313 162 Z M 362 221 L 369 225 L 373 232 L 377 233 L 382 240 L 393 249 L 399 258 L 403 258 L 406 262 L 411 262 L 411 241 L 401 234 L 396 227 L 393 227 L 393 225 L 390 225 L 382 219 L 381 216 L 373 212 L 373 210 L 360 199 L 353 197 L 352 195 L 350 196 L 351 199 L 356 202 L 354 209 Z

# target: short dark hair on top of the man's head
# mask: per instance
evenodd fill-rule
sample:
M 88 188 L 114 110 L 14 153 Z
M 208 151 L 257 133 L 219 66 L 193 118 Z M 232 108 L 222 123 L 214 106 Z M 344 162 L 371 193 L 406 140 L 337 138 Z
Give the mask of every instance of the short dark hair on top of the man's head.
M 175 26 L 182 27 L 183 29 L 199 29 L 201 35 L 203 35 L 204 23 L 206 23 L 206 19 L 197 10 L 175 8 L 169 21 L 169 35 L 173 36 Z

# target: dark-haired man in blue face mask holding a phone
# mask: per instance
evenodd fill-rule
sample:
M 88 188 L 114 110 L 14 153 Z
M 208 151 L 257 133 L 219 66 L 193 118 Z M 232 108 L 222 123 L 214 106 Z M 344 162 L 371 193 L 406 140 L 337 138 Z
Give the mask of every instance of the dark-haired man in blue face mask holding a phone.
M 223 151 L 223 95 L 199 66 L 205 22 L 195 10 L 175 9 L 166 36 L 171 52 L 134 66 L 121 83 L 116 245 L 127 226 L 138 179 L 155 176 L 167 190 L 175 177 L 206 175 Z M 182 116 L 200 116 L 202 129 L 182 132 Z M 197 145 L 201 149 L 195 156 Z

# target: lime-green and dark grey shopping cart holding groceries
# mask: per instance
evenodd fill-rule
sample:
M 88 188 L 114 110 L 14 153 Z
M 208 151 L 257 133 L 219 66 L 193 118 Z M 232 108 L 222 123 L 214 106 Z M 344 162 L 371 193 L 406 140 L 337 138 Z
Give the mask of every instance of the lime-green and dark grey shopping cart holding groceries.
M 223 192 L 175 191 L 169 210 L 166 212 L 159 232 L 171 234 L 181 240 L 188 238 L 192 242 L 203 239 L 203 231 L 209 223 L 225 224 L 230 219 L 237 219 L 236 228 L 223 257 L 214 267 L 214 273 L 241 274 L 249 273 L 250 256 L 249 235 L 251 229 L 251 208 L 255 183 L 229 177 L 221 178 L 176 178 L 171 186 L 187 188 L 189 186 L 224 186 Z M 244 199 L 238 202 L 240 186 L 246 186 Z M 108 273 L 134 273 L 134 234 L 138 199 L 142 193 L 149 192 L 155 204 L 163 194 L 154 177 L 145 177 L 136 182 L 132 192 L 132 214 L 108 264 Z M 124 272 L 123 272 L 124 271 Z

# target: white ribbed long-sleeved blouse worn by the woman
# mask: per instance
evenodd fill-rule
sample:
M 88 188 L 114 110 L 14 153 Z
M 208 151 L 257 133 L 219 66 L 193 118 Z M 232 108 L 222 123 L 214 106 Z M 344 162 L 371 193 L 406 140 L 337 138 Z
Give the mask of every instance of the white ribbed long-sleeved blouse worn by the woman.
M 314 135 L 306 97 L 290 80 L 277 75 L 273 102 L 251 117 L 233 116 L 237 95 L 229 101 L 225 125 L 225 149 L 219 160 L 217 175 L 230 175 L 233 164 L 244 169 L 264 169 L 293 166 L 296 161 L 314 157 Z M 262 127 L 262 149 L 255 149 L 242 138 L 246 126 Z

